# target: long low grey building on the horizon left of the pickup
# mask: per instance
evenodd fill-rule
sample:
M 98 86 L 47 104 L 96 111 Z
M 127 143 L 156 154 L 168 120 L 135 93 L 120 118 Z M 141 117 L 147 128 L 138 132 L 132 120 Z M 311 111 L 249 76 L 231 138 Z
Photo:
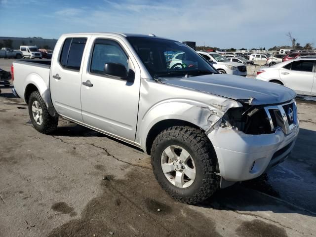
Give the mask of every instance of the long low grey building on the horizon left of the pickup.
M 57 40 L 52 39 L 36 39 L 36 38 L 20 38 L 20 37 L 0 37 L 0 45 L 2 45 L 5 40 L 12 40 L 12 48 L 20 49 L 20 45 L 32 45 L 43 48 L 48 46 L 49 49 L 54 49 Z M 3 46 L 6 47 L 6 46 Z

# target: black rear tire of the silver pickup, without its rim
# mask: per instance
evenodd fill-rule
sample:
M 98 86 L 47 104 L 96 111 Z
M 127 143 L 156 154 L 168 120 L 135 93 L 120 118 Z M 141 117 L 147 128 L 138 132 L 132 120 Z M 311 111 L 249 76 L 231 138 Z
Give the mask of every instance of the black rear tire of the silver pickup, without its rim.
M 40 104 L 40 108 L 42 109 L 42 123 L 40 125 L 37 124 L 33 117 L 32 104 L 34 101 L 38 101 Z M 53 117 L 48 113 L 47 107 L 43 99 L 41 98 L 40 92 L 38 90 L 31 93 L 28 107 L 30 119 L 36 130 L 43 134 L 48 134 L 56 130 L 58 125 L 58 117 Z

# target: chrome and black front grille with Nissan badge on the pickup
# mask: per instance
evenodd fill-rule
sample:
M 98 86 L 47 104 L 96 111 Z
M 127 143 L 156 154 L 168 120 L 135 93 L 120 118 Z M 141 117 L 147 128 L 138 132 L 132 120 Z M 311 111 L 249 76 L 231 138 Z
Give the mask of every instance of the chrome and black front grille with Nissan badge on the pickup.
M 294 100 L 286 104 L 267 106 L 265 111 L 272 131 L 282 129 L 287 135 L 297 124 L 297 108 Z

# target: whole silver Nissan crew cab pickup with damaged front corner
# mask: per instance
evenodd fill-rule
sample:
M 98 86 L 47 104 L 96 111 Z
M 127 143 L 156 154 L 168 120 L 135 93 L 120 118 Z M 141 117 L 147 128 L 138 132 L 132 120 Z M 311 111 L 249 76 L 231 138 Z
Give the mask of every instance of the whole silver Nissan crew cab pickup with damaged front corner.
M 170 51 L 190 64 L 170 67 Z M 152 34 L 62 35 L 51 61 L 14 61 L 12 75 L 39 132 L 58 129 L 61 116 L 137 146 L 185 203 L 282 162 L 299 131 L 293 90 L 220 74 L 187 45 Z

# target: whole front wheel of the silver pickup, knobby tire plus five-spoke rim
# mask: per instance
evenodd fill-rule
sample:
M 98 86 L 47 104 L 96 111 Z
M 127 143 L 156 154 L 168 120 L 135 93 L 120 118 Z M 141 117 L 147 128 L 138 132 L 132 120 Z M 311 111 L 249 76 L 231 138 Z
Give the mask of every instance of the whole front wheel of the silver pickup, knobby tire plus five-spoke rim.
M 151 161 L 160 186 L 181 202 L 201 202 L 218 188 L 216 155 L 199 129 L 174 126 L 162 131 L 153 143 Z

